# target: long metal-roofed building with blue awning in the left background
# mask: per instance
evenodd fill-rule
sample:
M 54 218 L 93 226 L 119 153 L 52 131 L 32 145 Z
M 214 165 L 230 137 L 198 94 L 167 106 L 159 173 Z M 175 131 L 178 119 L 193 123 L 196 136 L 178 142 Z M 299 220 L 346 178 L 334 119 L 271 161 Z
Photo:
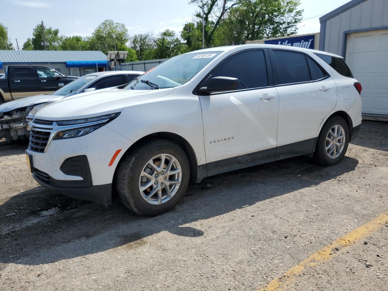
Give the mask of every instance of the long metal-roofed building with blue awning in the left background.
M 83 76 L 107 71 L 106 55 L 99 51 L 78 50 L 0 50 L 0 73 L 9 65 L 40 65 L 62 74 Z

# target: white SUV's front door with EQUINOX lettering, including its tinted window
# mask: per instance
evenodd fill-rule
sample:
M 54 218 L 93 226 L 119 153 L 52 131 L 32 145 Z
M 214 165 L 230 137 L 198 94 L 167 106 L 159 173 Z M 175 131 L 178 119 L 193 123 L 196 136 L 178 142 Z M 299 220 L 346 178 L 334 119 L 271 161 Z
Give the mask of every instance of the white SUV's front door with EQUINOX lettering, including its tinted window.
M 239 80 L 236 91 L 199 96 L 208 175 L 274 160 L 279 99 L 266 55 L 269 61 L 266 50 L 231 55 L 199 84 L 217 76 Z

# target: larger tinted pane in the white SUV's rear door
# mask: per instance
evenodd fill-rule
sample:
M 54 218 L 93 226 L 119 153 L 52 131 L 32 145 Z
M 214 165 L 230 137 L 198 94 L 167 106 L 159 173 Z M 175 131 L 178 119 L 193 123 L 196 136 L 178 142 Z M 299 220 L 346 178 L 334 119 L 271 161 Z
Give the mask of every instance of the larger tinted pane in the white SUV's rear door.
M 310 81 L 307 61 L 304 54 L 274 50 L 279 84 Z

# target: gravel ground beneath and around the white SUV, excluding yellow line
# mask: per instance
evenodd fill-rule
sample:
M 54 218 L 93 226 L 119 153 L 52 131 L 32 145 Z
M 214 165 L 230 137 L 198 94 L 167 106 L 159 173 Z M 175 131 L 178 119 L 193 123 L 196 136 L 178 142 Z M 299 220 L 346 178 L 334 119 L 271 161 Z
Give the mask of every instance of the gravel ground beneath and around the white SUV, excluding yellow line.
M 45 190 L 26 145 L 0 142 L 0 290 L 264 288 L 388 211 L 387 140 L 388 123 L 364 121 L 338 165 L 298 157 L 206 178 L 153 218 Z M 388 223 L 294 279 L 287 290 L 386 291 Z

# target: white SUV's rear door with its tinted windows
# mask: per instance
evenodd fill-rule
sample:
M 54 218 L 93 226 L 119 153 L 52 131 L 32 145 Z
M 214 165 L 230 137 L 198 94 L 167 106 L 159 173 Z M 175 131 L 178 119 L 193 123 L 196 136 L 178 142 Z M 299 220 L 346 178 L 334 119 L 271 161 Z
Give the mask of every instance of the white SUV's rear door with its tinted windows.
M 312 153 L 322 120 L 337 104 L 334 80 L 303 53 L 272 50 L 271 59 L 279 94 L 276 159 Z

